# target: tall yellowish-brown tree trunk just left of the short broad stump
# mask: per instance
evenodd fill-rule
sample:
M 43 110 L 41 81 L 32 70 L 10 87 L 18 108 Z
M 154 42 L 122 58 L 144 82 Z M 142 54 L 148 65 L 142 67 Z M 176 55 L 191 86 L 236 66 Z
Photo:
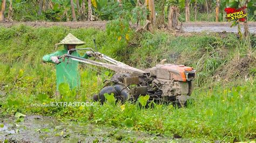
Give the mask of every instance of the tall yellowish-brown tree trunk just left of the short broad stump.
M 154 9 L 154 0 L 146 0 L 145 6 L 150 11 L 150 15 L 147 16 L 147 19 L 150 20 L 151 24 L 148 26 L 149 31 L 153 31 L 154 27 L 156 27 L 156 12 Z

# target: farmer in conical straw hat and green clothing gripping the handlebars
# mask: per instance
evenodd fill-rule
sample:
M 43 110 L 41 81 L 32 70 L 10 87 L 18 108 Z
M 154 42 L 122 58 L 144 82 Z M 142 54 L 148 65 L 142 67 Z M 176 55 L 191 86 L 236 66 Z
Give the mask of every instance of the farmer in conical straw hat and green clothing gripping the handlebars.
M 78 89 L 80 85 L 80 76 L 78 73 L 78 61 L 66 59 L 63 61 L 62 59 L 58 59 L 58 56 L 62 56 L 68 53 L 69 49 L 76 48 L 76 46 L 84 45 L 85 42 L 77 39 L 74 35 L 69 33 L 59 44 L 56 45 L 64 45 L 64 49 L 57 51 L 55 53 L 44 55 L 44 62 L 55 63 L 56 66 L 56 77 L 57 77 L 57 90 L 56 95 L 59 96 L 59 84 L 60 83 L 68 83 L 70 89 Z M 77 51 L 73 51 L 71 53 L 73 56 L 81 57 Z M 89 58 L 89 55 L 85 54 L 82 58 Z

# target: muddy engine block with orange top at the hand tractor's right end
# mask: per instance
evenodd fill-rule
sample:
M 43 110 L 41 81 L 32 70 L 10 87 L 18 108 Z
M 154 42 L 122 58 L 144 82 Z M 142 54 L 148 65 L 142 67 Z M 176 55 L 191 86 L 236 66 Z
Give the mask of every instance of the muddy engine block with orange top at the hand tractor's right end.
M 191 67 L 184 65 L 157 65 L 147 69 L 150 76 L 153 77 L 152 89 L 162 91 L 161 97 L 165 101 L 178 99 L 180 103 L 185 103 L 188 96 L 192 94 L 195 72 Z

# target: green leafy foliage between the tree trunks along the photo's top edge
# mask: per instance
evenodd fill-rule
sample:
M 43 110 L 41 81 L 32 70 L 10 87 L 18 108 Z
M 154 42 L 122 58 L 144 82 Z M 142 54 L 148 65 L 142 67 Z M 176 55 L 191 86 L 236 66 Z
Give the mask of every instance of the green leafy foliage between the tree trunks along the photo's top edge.
M 82 0 L 74 0 L 74 7 L 76 16 L 79 20 L 82 20 L 82 17 L 78 15 L 78 9 L 76 2 L 79 1 L 79 5 L 82 5 Z M 2 0 L 0 0 L 2 2 Z M 5 17 L 7 17 L 10 0 L 6 1 L 6 11 Z M 72 19 L 71 14 L 71 3 L 70 0 L 51 0 L 52 8 L 48 10 L 43 10 L 42 15 L 38 15 L 39 10 L 39 1 L 36 0 L 12 0 L 12 7 L 14 10 L 14 15 L 12 17 L 15 21 L 35 21 L 35 20 L 43 20 L 43 21 L 52 21 L 52 22 L 66 22 Z M 140 1 L 140 3 L 144 3 L 145 1 Z M 161 3 L 164 2 L 164 13 L 161 13 Z M 169 7 L 171 5 L 177 5 L 180 9 L 179 21 L 185 21 L 185 0 L 166 0 L 166 1 L 154 1 L 156 7 L 157 17 L 159 15 L 165 15 L 165 20 L 167 20 L 167 15 L 169 13 Z M 196 0 L 190 1 L 190 13 L 191 13 L 191 21 L 194 21 L 194 7 Z M 120 17 L 122 13 L 130 13 L 131 15 L 138 15 L 138 12 L 134 11 L 134 8 L 142 9 L 143 6 L 138 6 L 137 1 L 122 1 L 122 6 L 119 6 L 119 3 L 115 0 L 103 1 L 97 0 L 96 4 L 97 8 L 92 6 L 93 15 L 96 16 L 96 20 L 114 20 Z M 197 0 L 197 8 L 198 8 L 198 16 L 196 21 L 206 21 L 206 22 L 214 22 L 215 20 L 215 5 L 216 0 L 207 0 L 208 4 L 208 12 L 206 11 L 206 0 Z M 245 5 L 245 1 L 238 0 L 225 0 L 220 1 L 220 21 L 226 21 L 225 11 L 224 9 L 227 7 L 238 8 Z M 249 21 L 255 21 L 255 13 L 256 13 L 256 1 L 250 0 L 247 4 L 247 12 Z M 0 5 L 1 7 L 1 5 Z M 85 2 L 85 13 L 87 17 L 88 4 Z M 140 10 L 142 12 L 143 10 Z M 139 16 L 139 15 L 138 15 Z M 145 15 L 146 16 L 146 15 Z M 140 17 L 140 16 L 139 16 Z M 224 17 L 224 18 L 223 18 Z M 140 19 L 140 18 L 139 18 Z M 143 19 L 143 18 L 142 18 Z M 83 19 L 86 20 L 86 19 Z

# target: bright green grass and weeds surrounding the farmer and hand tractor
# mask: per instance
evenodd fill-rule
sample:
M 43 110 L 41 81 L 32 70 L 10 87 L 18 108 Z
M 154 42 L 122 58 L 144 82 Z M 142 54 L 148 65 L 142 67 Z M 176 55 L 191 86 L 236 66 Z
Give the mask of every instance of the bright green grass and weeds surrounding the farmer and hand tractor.
M 187 108 L 155 105 L 145 109 L 147 97 L 135 104 L 107 102 L 94 106 L 38 107 L 55 102 L 55 66 L 42 63 L 42 56 L 56 51 L 54 44 L 72 33 L 84 40 L 83 47 L 99 51 L 138 68 L 155 66 L 161 59 L 197 69 L 196 87 Z M 17 112 L 55 116 L 63 121 L 131 128 L 165 137 L 205 141 L 249 141 L 255 139 L 255 39 L 240 41 L 233 34 L 194 34 L 174 37 L 165 32 L 133 34 L 117 40 L 93 28 L 0 27 L 0 117 Z M 63 47 L 58 47 L 63 48 Z M 61 85 L 60 101 L 91 101 L 112 71 L 80 65 L 82 86 L 78 95 Z M 154 103 L 151 103 L 154 104 Z M 20 115 L 22 115 L 20 114 Z M 22 117 L 19 118 L 22 121 Z

